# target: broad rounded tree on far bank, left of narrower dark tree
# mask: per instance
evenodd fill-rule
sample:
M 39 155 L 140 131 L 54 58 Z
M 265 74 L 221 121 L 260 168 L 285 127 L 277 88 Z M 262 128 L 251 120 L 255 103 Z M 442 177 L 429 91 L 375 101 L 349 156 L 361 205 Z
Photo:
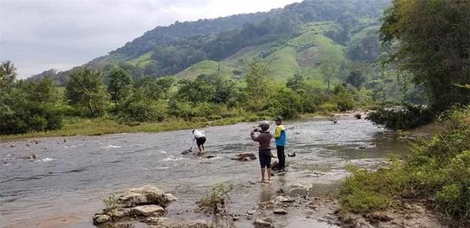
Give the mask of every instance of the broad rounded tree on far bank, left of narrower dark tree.
M 103 73 L 87 67 L 73 70 L 66 86 L 65 96 L 71 104 L 83 107 L 88 116 L 105 112 L 109 94 L 103 84 Z

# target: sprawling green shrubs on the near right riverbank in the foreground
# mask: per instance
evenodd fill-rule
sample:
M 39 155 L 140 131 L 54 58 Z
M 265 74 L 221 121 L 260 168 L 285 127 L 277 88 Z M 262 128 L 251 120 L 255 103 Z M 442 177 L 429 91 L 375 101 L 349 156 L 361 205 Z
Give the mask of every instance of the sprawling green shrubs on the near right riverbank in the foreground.
M 404 162 L 376 172 L 352 168 L 340 193 L 343 207 L 371 212 L 425 199 L 451 221 L 470 224 L 470 107 L 444 114 L 438 124 Z

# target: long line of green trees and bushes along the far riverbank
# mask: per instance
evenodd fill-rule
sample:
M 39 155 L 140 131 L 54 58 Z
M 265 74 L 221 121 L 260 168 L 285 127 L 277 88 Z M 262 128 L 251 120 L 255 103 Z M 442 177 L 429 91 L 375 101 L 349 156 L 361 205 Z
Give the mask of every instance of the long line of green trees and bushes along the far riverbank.
M 1 63 L 1 69 L 0 134 L 60 129 L 63 116 L 107 116 L 123 124 L 246 114 L 290 118 L 305 112 L 345 111 L 370 100 L 352 85 L 326 89 L 302 75 L 293 75 L 285 84 L 275 82 L 268 67 L 258 61 L 251 63 L 246 84 L 219 73 L 179 81 L 148 76 L 134 80 L 120 67 L 106 75 L 80 67 L 63 88 L 49 77 L 38 82 L 16 80 L 16 68 L 9 61 Z

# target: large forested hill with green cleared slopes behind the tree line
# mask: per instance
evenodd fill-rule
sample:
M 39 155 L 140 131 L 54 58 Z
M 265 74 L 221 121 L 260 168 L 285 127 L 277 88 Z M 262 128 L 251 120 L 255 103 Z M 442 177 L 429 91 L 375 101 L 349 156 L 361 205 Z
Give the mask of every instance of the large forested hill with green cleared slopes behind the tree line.
M 234 77 L 243 76 L 256 58 L 268 64 L 276 80 L 284 81 L 294 73 L 318 77 L 321 61 L 343 60 L 345 50 L 353 60 L 376 57 L 377 51 L 368 52 L 369 46 L 363 45 L 374 43 L 367 41 L 374 37 L 366 29 L 372 31 L 367 26 L 373 23 L 377 26 L 377 18 L 389 4 L 390 0 L 305 0 L 268 12 L 177 21 L 147 31 L 84 66 L 105 74 L 119 66 L 135 78 L 188 78 L 214 72 L 214 64 L 205 62 L 214 61 L 220 63 L 225 77 Z M 68 73 L 51 76 L 64 85 Z

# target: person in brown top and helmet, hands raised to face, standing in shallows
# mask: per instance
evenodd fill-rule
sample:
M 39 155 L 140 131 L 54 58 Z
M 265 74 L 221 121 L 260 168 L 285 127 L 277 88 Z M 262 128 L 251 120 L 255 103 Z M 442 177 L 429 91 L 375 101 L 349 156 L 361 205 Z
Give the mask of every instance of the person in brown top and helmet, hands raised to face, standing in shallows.
M 259 124 L 261 129 L 252 129 L 251 130 L 251 139 L 253 141 L 257 141 L 259 143 L 258 148 L 258 157 L 259 163 L 261 165 L 261 182 L 263 183 L 266 179 L 264 178 L 264 174 L 266 170 L 268 170 L 268 180 L 271 179 L 271 139 L 273 139 L 273 135 L 269 133 L 269 123 L 268 121 L 261 121 Z M 259 134 L 255 136 L 255 132 Z

